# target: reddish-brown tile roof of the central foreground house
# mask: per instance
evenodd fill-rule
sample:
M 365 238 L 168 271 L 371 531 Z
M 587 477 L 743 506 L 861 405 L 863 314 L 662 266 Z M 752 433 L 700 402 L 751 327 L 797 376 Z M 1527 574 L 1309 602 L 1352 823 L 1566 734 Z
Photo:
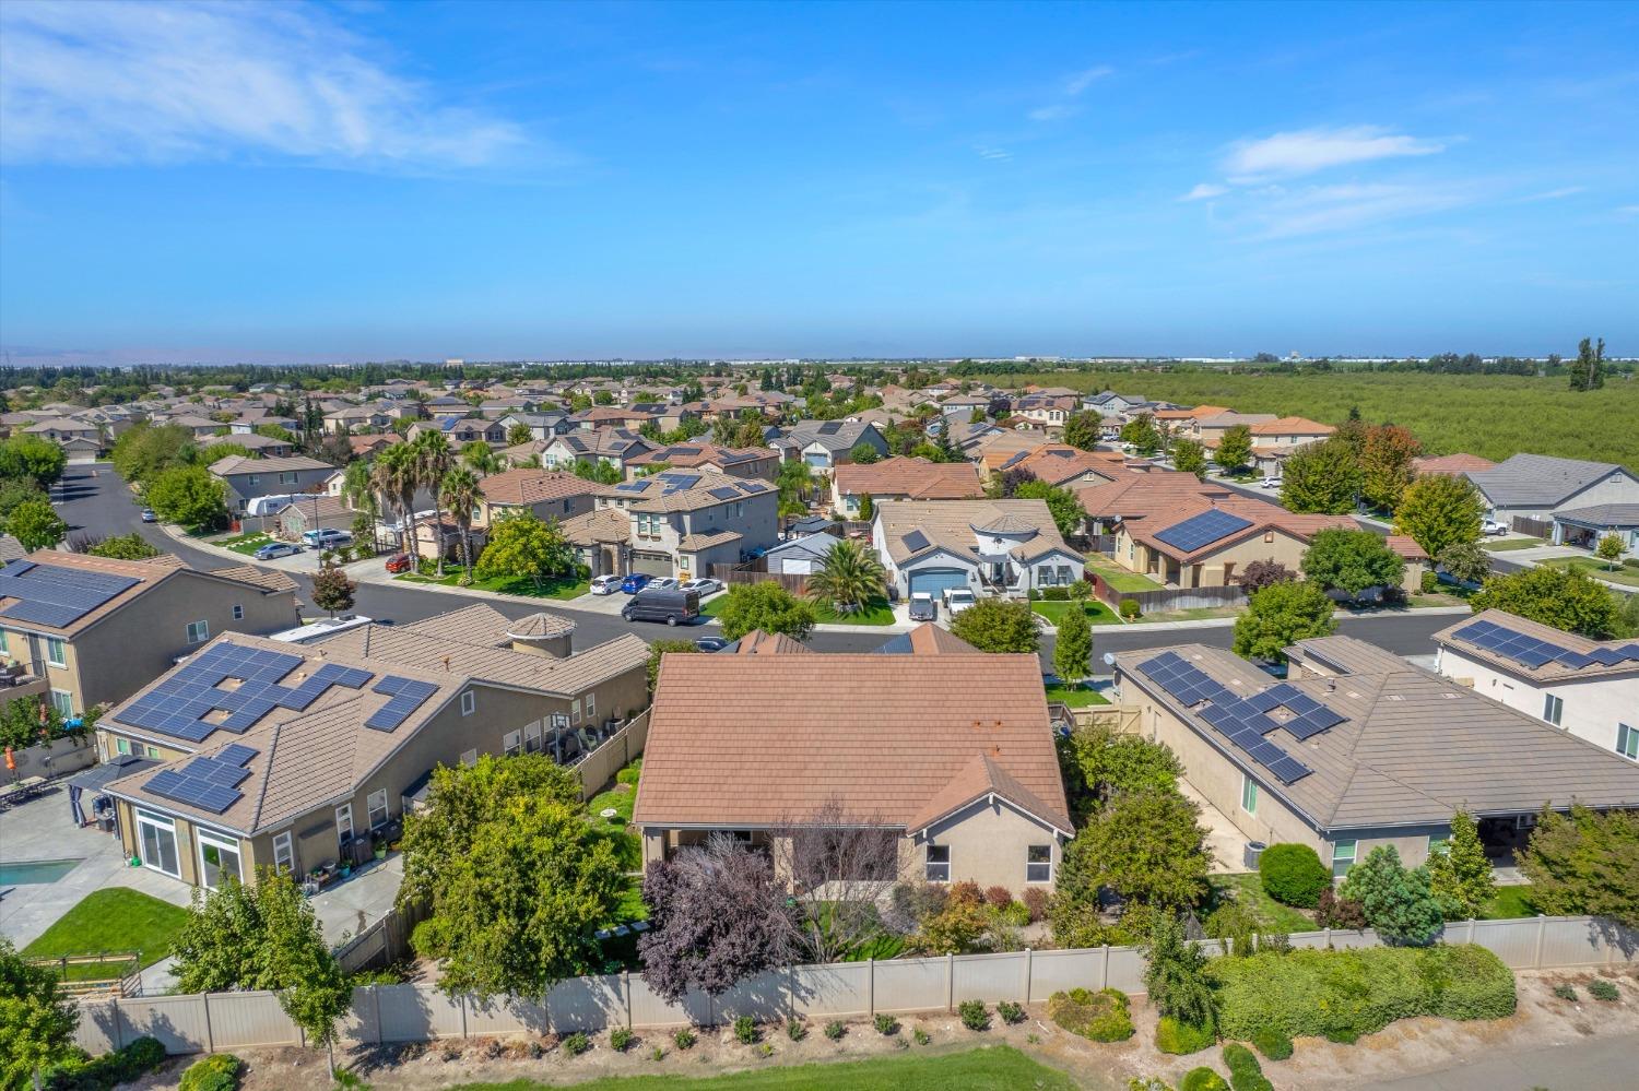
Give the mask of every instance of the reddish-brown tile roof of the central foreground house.
M 975 757 L 1070 829 L 1034 655 L 667 655 L 634 821 L 910 827 Z

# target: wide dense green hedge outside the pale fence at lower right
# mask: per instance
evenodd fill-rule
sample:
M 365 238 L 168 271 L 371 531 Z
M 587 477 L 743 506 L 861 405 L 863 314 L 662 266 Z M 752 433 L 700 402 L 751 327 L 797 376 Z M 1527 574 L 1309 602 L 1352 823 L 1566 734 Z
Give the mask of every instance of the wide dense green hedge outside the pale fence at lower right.
M 1501 1019 L 1514 1011 L 1514 975 L 1472 945 L 1259 952 L 1214 958 L 1206 971 L 1226 1039 L 1277 1029 L 1354 1042 L 1411 1016 Z

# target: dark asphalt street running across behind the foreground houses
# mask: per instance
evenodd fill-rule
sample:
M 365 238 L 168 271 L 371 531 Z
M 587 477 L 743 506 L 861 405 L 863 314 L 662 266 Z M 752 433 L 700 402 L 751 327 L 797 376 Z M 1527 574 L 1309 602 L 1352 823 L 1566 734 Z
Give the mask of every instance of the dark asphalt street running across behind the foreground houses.
M 84 532 L 95 537 L 108 537 L 111 534 L 129 534 L 131 531 L 136 531 L 159 549 L 179 554 L 195 568 L 208 572 L 239 564 L 228 560 L 220 554 L 179 542 L 157 526 L 143 523 L 139 505 L 131 500 L 131 493 L 125 482 L 108 464 L 70 465 L 57 488 L 56 500 L 57 513 L 72 527 L 70 534 Z M 308 578 L 302 573 L 292 575 L 302 585 L 302 595 L 308 595 Z M 402 624 L 408 621 L 420 621 L 433 614 L 443 614 L 451 609 L 459 609 L 461 606 L 470 603 L 490 603 L 508 618 L 521 618 L 538 609 L 524 603 L 497 600 L 482 593 L 449 595 L 421 591 L 411 586 L 400 588 L 374 583 L 359 585 L 354 609 L 367 618 Z M 688 629 L 679 631 L 642 622 L 624 622 L 618 616 L 577 609 L 565 603 L 547 603 L 546 608 L 561 611 L 575 619 L 579 626 L 577 644 L 580 647 L 602 644 L 603 641 L 610 641 L 621 632 L 636 632 L 646 641 L 677 639 L 690 632 Z M 1439 629 L 1449 626 L 1451 621 L 1451 614 L 1377 614 L 1369 618 L 1344 618 L 1337 631 L 1385 647 L 1398 655 L 1432 655 L 1434 642 L 1429 641 L 1429 637 Z M 710 632 L 713 631 L 700 631 L 701 636 Z M 890 634 L 887 632 L 816 632 L 810 637 L 808 645 L 820 652 L 869 652 L 882 645 L 888 636 Z M 1105 652 L 1134 652 L 1151 647 L 1177 647 L 1180 644 L 1192 642 L 1229 647 L 1231 636 L 1231 629 L 1226 624 L 1188 629 L 1108 626 L 1096 627 L 1093 631 L 1093 654 L 1101 657 Z M 1051 636 L 1042 637 L 1042 662 L 1052 662 Z

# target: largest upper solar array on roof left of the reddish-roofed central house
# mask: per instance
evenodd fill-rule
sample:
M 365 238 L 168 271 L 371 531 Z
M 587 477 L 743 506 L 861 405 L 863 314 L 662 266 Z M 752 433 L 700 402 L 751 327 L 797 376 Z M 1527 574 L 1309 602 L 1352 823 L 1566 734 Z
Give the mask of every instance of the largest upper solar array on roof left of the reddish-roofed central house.
M 305 711 L 331 686 L 359 690 L 374 677 L 357 667 L 325 663 L 300 685 L 279 685 L 280 678 L 303 662 L 300 655 L 288 652 L 216 644 L 131 701 L 120 713 L 120 721 L 188 742 L 203 742 L 218 729 L 243 734 L 275 708 Z M 239 685 L 220 688 L 229 678 Z M 211 713 L 228 716 L 213 722 L 207 719 Z

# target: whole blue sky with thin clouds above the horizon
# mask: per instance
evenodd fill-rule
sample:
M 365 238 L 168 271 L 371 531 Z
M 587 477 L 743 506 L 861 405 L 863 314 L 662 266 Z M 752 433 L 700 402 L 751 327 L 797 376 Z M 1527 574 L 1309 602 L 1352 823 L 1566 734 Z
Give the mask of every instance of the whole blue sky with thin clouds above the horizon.
M 13 359 L 1639 355 L 1639 5 L 0 5 Z

